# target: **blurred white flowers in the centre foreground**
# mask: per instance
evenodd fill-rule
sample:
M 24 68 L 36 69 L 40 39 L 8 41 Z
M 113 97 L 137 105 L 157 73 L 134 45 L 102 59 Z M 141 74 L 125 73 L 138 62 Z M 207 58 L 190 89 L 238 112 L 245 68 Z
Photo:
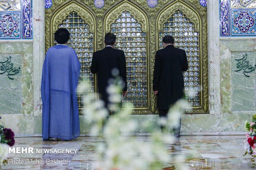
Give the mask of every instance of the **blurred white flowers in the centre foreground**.
M 110 81 L 107 88 L 111 104 L 106 109 L 101 100 L 96 101 L 96 94 L 85 96 L 85 119 L 94 125 L 91 133 L 100 135 L 101 123 L 104 123 L 103 138 L 106 143 L 97 146 L 97 169 L 98 170 L 161 170 L 164 164 L 170 164 L 171 158 L 165 144 L 173 142 L 174 137 L 168 133 L 154 132 L 149 137 L 150 142 L 137 140 L 132 136 L 138 128 L 138 122 L 131 119 L 132 105 L 129 103 L 120 109 L 122 102 L 120 79 Z M 82 88 L 87 88 L 88 82 L 84 82 Z M 83 91 L 83 90 L 79 90 Z M 178 105 L 170 109 L 168 124 L 176 125 L 180 119 L 182 109 L 187 104 L 180 100 Z M 108 117 L 108 110 L 113 115 Z M 177 159 L 178 160 L 178 159 Z M 179 160 L 180 161 L 180 160 Z M 182 161 L 180 161 L 181 163 Z M 181 166 L 180 166 L 181 167 Z M 183 168 L 182 169 L 186 169 Z

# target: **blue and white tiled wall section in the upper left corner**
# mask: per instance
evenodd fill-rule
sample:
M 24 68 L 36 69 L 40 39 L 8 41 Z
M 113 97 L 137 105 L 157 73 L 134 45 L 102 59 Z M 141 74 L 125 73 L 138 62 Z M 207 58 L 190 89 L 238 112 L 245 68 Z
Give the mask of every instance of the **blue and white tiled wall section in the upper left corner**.
M 0 40 L 32 38 L 32 0 L 0 0 Z

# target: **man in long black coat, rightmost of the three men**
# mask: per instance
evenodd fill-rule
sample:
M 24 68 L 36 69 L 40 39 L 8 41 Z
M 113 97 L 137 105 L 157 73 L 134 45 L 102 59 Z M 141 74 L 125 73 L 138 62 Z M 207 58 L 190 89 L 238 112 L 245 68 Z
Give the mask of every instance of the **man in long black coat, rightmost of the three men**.
M 168 109 L 184 95 L 183 71 L 187 71 L 187 56 L 183 49 L 174 47 L 174 38 L 163 38 L 164 49 L 156 51 L 153 90 L 157 98 L 160 118 L 166 117 Z M 176 137 L 180 137 L 180 125 L 173 128 Z M 161 125 L 161 129 L 164 126 Z

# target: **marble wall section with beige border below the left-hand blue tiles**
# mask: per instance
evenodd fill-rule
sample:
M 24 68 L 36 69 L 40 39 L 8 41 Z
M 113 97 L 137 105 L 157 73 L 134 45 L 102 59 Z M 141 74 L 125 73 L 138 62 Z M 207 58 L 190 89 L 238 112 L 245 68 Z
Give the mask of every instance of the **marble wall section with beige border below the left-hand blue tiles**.
M 10 81 L 10 83 L 6 84 L 6 86 L 2 85 L 2 83 L 0 85 L 0 88 L 2 87 L 6 89 L 15 88 L 19 91 L 19 93 L 15 94 L 19 96 L 17 97 L 19 98 L 19 100 L 15 101 L 15 107 L 19 109 L 16 109 L 15 111 L 14 110 L 7 111 L 7 109 L 5 109 L 2 111 L 2 107 L 1 107 L 0 114 L 33 115 L 33 86 L 32 86 L 33 85 L 33 43 L 0 42 L 0 56 L 3 56 L 3 58 L 12 56 L 12 62 L 13 63 L 15 62 L 13 64 L 13 67 L 21 68 L 21 72 L 19 72 L 17 75 L 14 75 L 16 77 L 14 77 L 13 81 Z M 6 59 L 3 60 L 1 58 L 0 60 L 6 61 Z M 6 76 L 6 73 L 2 74 L 2 76 Z M 5 81 L 3 83 L 8 83 L 7 79 L 2 81 Z M 4 89 L 1 89 L 0 93 L 2 93 L 2 96 L 4 97 L 4 94 L 5 94 Z M 21 99 L 21 96 L 22 96 L 22 99 Z M 11 96 L 9 96 L 8 98 L 12 99 Z M 3 100 L 3 99 L 0 99 L 0 100 Z M 3 103 L 6 104 L 7 102 L 5 101 Z M 22 105 L 22 107 L 18 107 L 18 105 Z

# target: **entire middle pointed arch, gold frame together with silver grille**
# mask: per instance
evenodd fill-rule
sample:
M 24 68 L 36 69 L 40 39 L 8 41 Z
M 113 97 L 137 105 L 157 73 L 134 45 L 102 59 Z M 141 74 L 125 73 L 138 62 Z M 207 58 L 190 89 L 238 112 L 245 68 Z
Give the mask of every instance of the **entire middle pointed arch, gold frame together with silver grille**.
M 152 112 L 147 14 L 132 2 L 124 0 L 104 16 L 103 35 L 107 32 L 116 34 L 116 48 L 126 55 L 128 93 L 123 98 L 123 105 L 131 102 L 134 113 Z

